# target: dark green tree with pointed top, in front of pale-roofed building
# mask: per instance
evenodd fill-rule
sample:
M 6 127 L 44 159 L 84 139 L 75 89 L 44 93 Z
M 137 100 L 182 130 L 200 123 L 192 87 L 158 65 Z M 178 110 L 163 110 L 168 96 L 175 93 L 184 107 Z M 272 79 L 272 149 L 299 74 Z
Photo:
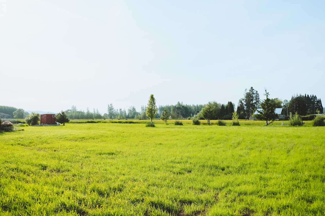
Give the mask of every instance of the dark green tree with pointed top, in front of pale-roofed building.
M 271 124 L 278 117 L 275 113 L 276 104 L 268 97 L 269 93 L 265 90 L 266 99 L 261 103 L 262 111 L 257 110 L 256 118 L 266 121 L 266 125 Z

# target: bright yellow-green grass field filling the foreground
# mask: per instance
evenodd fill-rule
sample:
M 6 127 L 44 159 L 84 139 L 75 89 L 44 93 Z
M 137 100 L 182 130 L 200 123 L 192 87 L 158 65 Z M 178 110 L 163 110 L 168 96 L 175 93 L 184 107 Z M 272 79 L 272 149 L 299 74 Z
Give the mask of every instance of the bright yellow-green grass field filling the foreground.
M 325 128 L 66 124 L 0 133 L 1 215 L 324 215 Z

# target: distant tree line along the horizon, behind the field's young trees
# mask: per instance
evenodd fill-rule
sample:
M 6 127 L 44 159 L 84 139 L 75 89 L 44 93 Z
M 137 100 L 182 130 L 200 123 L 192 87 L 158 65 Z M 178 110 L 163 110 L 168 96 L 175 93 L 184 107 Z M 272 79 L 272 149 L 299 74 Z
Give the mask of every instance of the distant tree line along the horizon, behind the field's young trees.
M 268 98 L 270 104 L 275 108 L 283 108 L 282 113 L 289 115 L 290 113 L 297 113 L 299 115 L 309 115 L 323 113 L 323 105 L 320 98 L 316 95 L 309 94 L 297 94 L 293 95 L 291 100 L 281 101 L 279 98 Z M 231 101 L 227 104 L 221 104 L 218 102 L 210 102 L 212 114 L 211 119 L 232 119 L 232 114 L 235 111 L 235 104 Z M 155 118 L 161 118 L 162 114 L 166 110 L 169 116 L 168 119 L 183 119 L 197 117 L 203 119 L 202 109 L 207 104 L 184 104 L 183 102 L 177 102 L 175 105 L 159 105 Z M 253 87 L 244 90 L 243 97 L 237 104 L 237 114 L 239 119 L 248 119 L 251 117 L 257 108 L 261 107 L 261 99 L 257 90 Z M 139 111 L 135 106 L 130 106 L 127 110 L 115 109 L 113 104 L 110 103 L 107 106 L 107 113 L 100 114 L 98 109 L 93 109 L 91 112 L 88 108 L 86 111 L 78 110 L 76 106 L 72 106 L 71 109 L 65 111 L 69 119 L 148 119 L 146 114 L 147 105 L 141 106 Z M 164 113 L 166 115 L 166 112 Z M 17 109 L 11 106 L 0 106 L 0 114 L 10 118 L 24 118 L 27 116 L 27 112 L 23 109 Z M 0 116 L 1 117 L 1 116 Z M 5 117 L 2 117 L 5 118 Z

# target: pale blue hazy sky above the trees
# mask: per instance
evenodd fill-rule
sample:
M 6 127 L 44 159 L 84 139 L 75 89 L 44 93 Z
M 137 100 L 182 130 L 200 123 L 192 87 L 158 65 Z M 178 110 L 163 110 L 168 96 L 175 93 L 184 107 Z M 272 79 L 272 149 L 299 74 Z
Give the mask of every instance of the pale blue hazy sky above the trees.
M 0 105 L 325 100 L 325 1 L 0 0 Z

